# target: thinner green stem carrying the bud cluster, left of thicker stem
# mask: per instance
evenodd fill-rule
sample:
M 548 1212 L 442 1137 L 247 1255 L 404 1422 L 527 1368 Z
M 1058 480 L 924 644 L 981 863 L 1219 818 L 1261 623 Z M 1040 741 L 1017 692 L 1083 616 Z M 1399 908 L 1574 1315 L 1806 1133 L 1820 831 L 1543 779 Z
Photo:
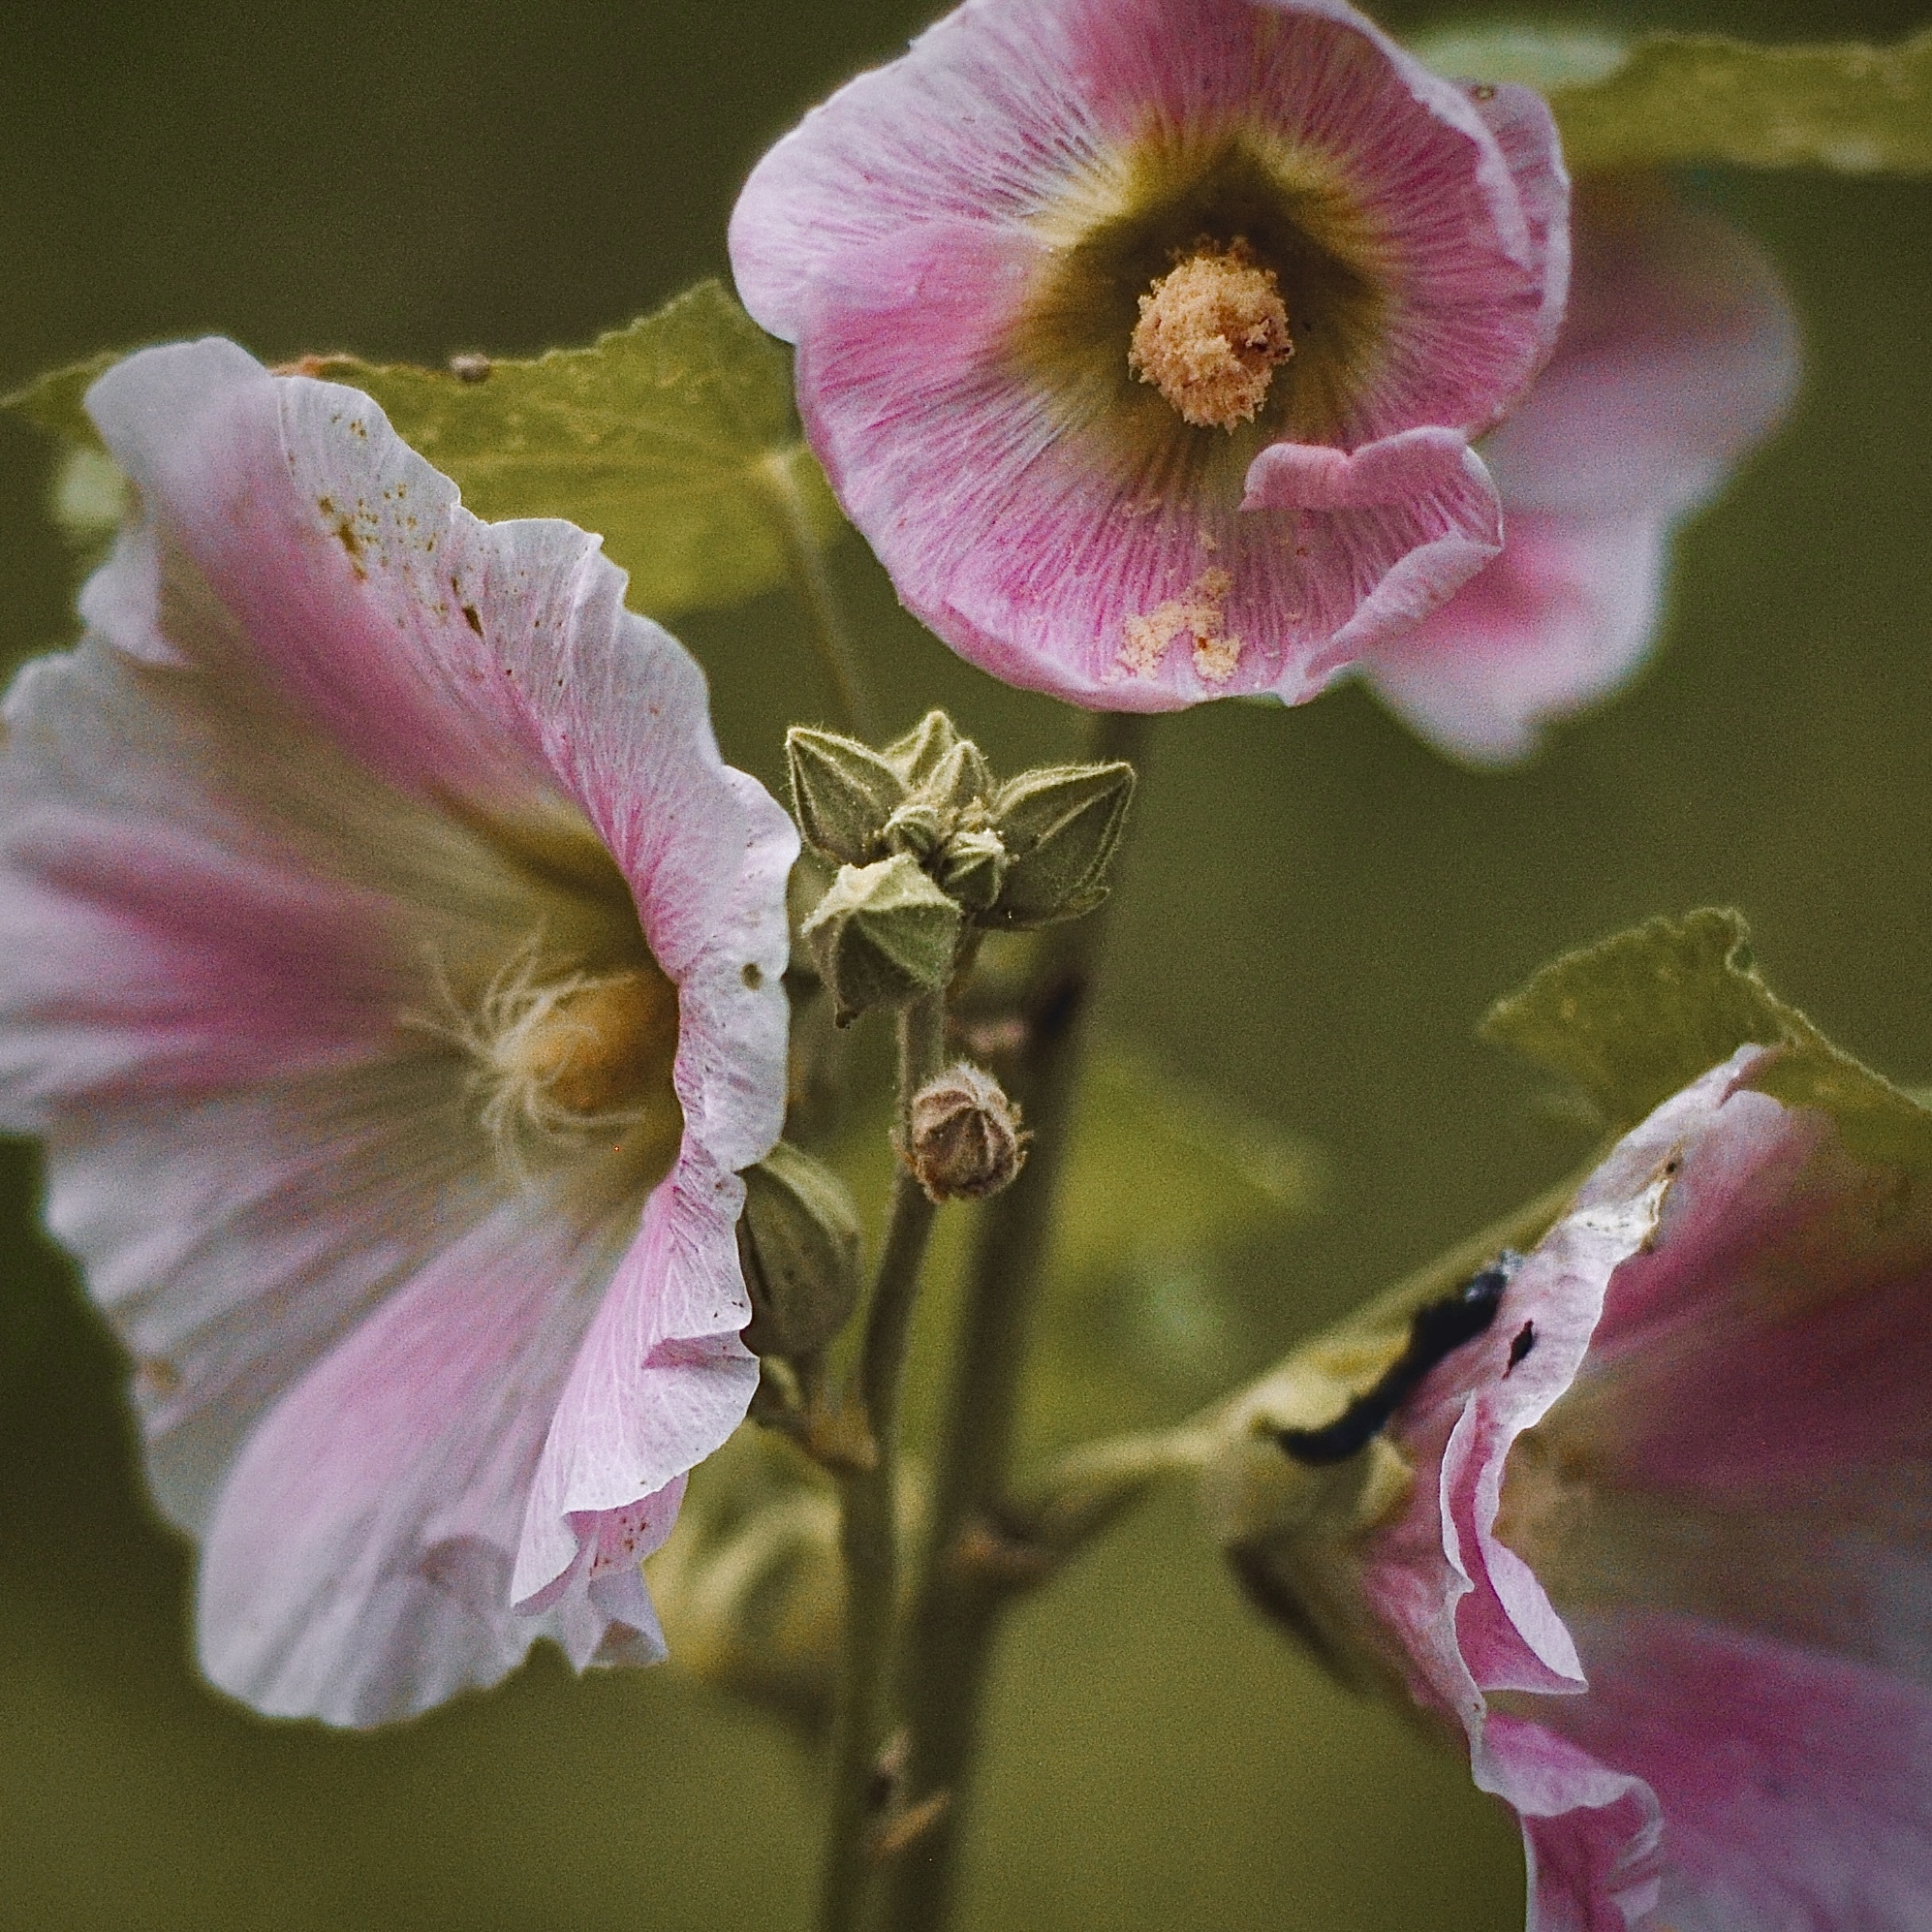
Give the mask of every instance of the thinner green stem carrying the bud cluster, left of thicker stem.
M 916 1001 L 898 1016 L 898 1132 L 912 1095 L 945 1057 L 945 999 Z M 846 1617 L 838 1708 L 833 1719 L 831 1812 L 825 1837 L 823 1932 L 852 1932 L 866 1907 L 875 1824 L 873 1779 L 883 1745 L 885 1667 L 898 1611 L 898 1395 L 906 1366 L 920 1265 L 933 1204 L 898 1161 L 879 1273 L 860 1345 L 858 1395 L 873 1455 L 840 1474 L 840 1551 Z

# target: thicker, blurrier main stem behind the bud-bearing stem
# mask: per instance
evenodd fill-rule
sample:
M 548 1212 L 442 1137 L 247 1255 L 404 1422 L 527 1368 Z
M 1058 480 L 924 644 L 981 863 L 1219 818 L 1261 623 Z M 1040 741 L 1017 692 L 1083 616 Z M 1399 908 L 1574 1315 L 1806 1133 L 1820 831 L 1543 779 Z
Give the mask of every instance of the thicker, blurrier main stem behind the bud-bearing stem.
M 1148 719 L 1099 713 L 1084 757 L 1146 757 Z M 904 1646 L 900 1696 L 908 1727 L 906 1797 L 945 1793 L 937 1818 L 893 1864 L 887 1924 L 937 1932 L 952 1911 L 966 1785 L 980 1743 L 980 1706 L 1010 1580 L 970 1561 L 976 1532 L 1001 1522 L 1020 1376 L 1047 1242 L 1094 980 L 1107 935 L 1097 912 L 1043 935 L 1028 980 L 1026 1045 L 1010 1082 L 1034 1136 L 1018 1180 L 987 1204 L 966 1289 L 960 1364 L 939 1447 L 931 1528 Z

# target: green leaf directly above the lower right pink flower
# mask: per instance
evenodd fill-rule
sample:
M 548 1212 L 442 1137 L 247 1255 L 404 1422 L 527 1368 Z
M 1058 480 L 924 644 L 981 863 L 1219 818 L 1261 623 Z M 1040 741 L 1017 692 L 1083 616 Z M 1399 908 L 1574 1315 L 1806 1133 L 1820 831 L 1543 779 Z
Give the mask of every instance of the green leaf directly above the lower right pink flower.
M 1864 1159 L 1932 1167 L 1932 1113 L 1758 978 L 1737 912 L 1646 920 L 1567 952 L 1497 1001 L 1482 1034 L 1575 1080 L 1615 1132 L 1739 1047 L 1781 1045 L 1754 1088 L 1787 1107 L 1822 1107 Z

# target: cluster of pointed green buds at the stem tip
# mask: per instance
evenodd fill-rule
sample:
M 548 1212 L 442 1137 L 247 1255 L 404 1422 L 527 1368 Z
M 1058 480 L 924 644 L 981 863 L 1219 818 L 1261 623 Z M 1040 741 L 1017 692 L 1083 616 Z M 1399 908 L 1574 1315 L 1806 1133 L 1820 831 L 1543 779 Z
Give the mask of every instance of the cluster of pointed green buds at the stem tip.
M 1005 784 L 943 711 L 883 752 L 786 736 L 806 844 L 838 875 L 804 923 L 840 1024 L 943 991 L 980 931 L 1076 920 L 1107 896 L 1132 765 L 1049 765 Z

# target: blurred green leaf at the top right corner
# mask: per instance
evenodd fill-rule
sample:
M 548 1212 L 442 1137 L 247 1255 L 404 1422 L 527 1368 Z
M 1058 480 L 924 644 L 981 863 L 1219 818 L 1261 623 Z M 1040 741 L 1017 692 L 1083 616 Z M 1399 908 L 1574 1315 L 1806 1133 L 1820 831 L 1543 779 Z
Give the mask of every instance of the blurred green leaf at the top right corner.
M 1754 46 L 1719 35 L 1482 27 L 1435 35 L 1416 52 L 1439 73 L 1549 95 L 1575 172 L 1681 162 L 1932 170 L 1932 29 L 1897 46 Z

